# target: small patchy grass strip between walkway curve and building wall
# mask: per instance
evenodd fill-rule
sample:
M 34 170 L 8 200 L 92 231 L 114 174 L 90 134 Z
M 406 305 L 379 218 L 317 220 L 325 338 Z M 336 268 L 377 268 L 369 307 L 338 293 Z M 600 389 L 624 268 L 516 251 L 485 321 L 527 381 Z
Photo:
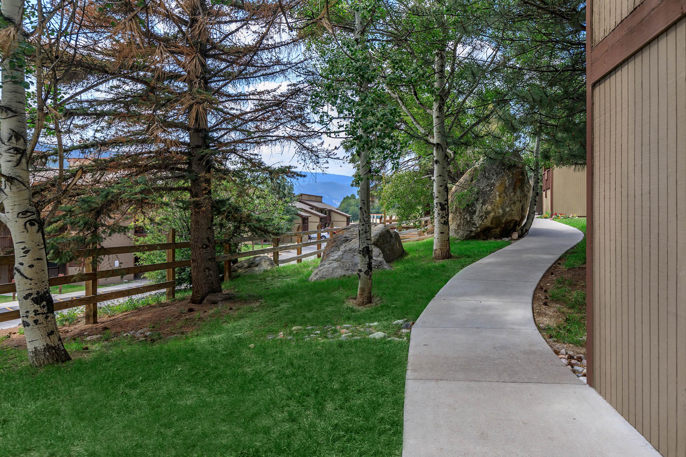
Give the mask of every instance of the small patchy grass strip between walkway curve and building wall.
M 561 258 L 565 269 L 584 267 L 586 265 L 586 219 L 557 219 L 556 222 L 571 225 L 584 233 L 584 238 Z M 568 278 L 558 277 L 550 291 L 550 299 L 559 304 L 565 313 L 565 321 L 547 328 L 552 338 L 562 343 L 577 346 L 586 345 L 586 281 L 579 284 Z

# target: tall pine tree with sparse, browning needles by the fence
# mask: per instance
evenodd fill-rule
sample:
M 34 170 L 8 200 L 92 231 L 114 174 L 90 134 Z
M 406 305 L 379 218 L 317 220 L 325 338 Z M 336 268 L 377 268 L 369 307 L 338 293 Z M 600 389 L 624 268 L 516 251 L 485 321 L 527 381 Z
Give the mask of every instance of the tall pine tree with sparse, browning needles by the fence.
M 160 192 L 189 196 L 191 274 L 198 303 L 221 291 L 215 267 L 215 216 L 236 208 L 213 186 L 267 166 L 259 149 L 295 145 L 306 162 L 327 158 L 309 125 L 305 87 L 274 84 L 294 75 L 300 39 L 287 12 L 297 5 L 206 0 L 117 3 L 91 23 L 92 69 L 112 77 L 106 91 L 69 106 L 69 119 L 97 122 L 97 166 L 129 189 L 122 201 Z M 110 23 L 114 40 L 102 36 Z M 85 125 L 84 125 L 85 127 Z M 223 213 L 222 213 L 223 212 Z

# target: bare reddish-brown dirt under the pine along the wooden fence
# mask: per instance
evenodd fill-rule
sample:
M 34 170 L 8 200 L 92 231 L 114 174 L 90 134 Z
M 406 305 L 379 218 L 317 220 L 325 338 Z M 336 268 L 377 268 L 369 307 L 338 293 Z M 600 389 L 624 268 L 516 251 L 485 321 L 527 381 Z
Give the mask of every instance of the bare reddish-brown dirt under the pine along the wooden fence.
M 60 335 L 65 342 L 75 339 L 85 341 L 86 336 L 101 335 L 105 332 L 114 337 L 149 329 L 153 338 L 164 338 L 187 334 L 199 328 L 208 319 L 236 312 L 246 306 L 257 305 L 257 302 L 237 301 L 229 293 L 210 295 L 200 305 L 190 304 L 189 299 L 165 301 L 110 317 L 98 316 L 98 323 L 95 325 L 86 325 L 84 318 L 81 317 L 72 324 L 60 326 Z M 9 338 L 2 339 L 5 336 Z M 23 334 L 19 334 L 19 327 L 0 330 L 0 340 L 0 347 L 26 347 Z

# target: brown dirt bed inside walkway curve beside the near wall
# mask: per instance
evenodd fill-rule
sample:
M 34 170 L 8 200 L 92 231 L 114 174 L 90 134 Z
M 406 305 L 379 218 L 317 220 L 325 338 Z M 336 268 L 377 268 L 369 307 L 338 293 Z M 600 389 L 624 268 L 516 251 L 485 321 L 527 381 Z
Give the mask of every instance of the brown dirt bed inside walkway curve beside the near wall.
M 586 355 L 586 348 L 572 345 L 570 343 L 563 343 L 560 341 L 553 341 L 551 335 L 540 328 L 540 325 L 545 327 L 555 327 L 565 321 L 565 312 L 558 308 L 564 308 L 565 304 L 560 301 L 550 299 L 549 293 L 553 290 L 556 280 L 559 277 L 565 278 L 568 281 L 567 287 L 573 293 L 574 291 L 586 291 L 586 266 L 565 269 L 563 261 L 558 260 L 555 264 L 545 272 L 541 282 L 536 286 L 534 292 L 534 321 L 536 321 L 536 328 L 539 328 L 541 336 L 545 338 L 546 343 L 555 351 L 556 354 L 560 350 L 565 349 L 567 353 Z

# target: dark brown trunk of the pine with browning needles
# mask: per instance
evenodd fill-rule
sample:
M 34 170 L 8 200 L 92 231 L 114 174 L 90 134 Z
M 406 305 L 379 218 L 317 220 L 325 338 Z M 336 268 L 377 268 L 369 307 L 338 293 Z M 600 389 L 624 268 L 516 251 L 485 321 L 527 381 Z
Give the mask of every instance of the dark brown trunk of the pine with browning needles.
M 189 95 L 196 98 L 189 107 L 189 169 L 191 188 L 191 303 L 199 304 L 211 293 L 222 292 L 217 273 L 217 250 L 214 234 L 211 155 L 204 97 L 211 92 L 206 74 L 206 5 L 203 0 L 193 4 L 188 30 L 199 58 L 189 56 L 185 69 L 189 76 Z M 197 72 L 197 73 L 196 73 Z M 191 114 L 192 113 L 192 114 Z

